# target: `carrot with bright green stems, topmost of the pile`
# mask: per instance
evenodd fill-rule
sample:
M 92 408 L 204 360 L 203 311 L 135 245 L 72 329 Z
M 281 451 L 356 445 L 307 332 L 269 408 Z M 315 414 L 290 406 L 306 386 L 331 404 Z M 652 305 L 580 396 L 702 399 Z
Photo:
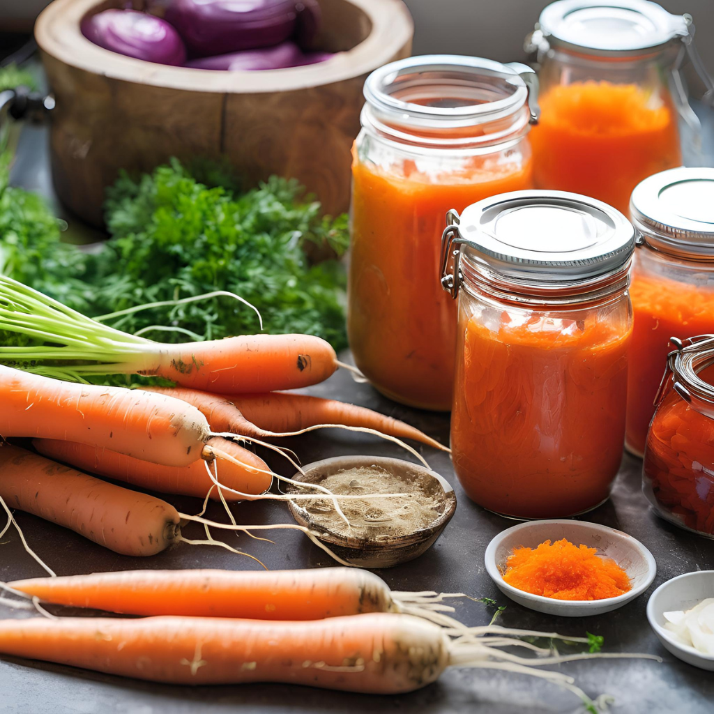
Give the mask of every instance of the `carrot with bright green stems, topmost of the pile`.
M 141 306 L 130 308 L 137 310 Z M 310 335 L 154 342 L 91 320 L 5 276 L 0 276 L 0 329 L 41 340 L 31 346 L 0 345 L 1 362 L 73 381 L 137 373 L 213 392 L 265 392 L 316 384 L 338 367 L 330 344 Z

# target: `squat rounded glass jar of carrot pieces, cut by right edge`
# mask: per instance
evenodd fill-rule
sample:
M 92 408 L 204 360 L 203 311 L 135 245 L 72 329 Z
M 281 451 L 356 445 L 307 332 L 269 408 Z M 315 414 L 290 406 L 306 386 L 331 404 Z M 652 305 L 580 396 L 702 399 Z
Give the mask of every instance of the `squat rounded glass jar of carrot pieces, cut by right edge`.
M 662 518 L 714 538 L 714 336 L 672 342 L 647 436 L 643 491 Z

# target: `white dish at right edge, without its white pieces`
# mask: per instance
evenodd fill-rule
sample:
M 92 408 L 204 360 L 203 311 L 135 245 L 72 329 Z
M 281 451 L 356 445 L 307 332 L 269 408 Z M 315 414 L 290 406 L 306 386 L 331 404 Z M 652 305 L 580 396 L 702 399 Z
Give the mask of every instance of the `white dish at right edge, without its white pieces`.
M 647 603 L 647 619 L 663 647 L 683 662 L 710 672 L 714 672 L 714 655 L 705 655 L 680 643 L 673 632 L 665 629 L 664 613 L 689 610 L 705 598 L 713 597 L 714 570 L 695 570 L 662 583 Z

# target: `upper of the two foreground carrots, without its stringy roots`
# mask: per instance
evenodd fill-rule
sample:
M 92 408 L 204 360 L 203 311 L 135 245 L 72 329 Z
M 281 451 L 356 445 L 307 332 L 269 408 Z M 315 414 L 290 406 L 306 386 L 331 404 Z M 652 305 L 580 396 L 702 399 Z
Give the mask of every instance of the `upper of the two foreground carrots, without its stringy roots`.
M 126 570 L 9 584 L 48 603 L 131 615 L 321 620 L 399 610 L 384 580 L 359 568 Z

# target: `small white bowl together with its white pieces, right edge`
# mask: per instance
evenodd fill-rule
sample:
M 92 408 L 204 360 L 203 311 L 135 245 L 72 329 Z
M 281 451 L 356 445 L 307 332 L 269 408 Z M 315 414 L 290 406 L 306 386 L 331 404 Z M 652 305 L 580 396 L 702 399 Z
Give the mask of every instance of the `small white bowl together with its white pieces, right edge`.
M 667 580 L 650 595 L 647 619 L 665 649 L 714 672 L 714 570 Z

